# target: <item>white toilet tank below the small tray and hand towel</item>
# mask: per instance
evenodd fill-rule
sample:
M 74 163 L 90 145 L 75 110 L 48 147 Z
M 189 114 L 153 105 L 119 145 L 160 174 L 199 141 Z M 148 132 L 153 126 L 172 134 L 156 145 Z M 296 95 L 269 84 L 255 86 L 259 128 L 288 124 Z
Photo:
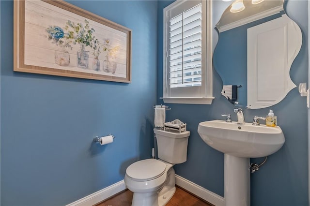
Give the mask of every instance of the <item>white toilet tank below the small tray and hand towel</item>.
M 154 129 L 157 140 L 158 158 L 165 162 L 178 164 L 186 162 L 187 143 L 190 132 L 164 131 Z

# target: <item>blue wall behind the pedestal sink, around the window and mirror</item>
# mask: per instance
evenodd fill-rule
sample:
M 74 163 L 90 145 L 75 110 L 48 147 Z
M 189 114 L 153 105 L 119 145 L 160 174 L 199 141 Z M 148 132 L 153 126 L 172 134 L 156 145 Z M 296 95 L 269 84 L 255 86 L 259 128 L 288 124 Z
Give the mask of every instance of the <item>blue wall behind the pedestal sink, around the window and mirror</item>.
M 162 97 L 162 9 L 171 1 L 158 1 L 158 85 L 157 98 Z M 213 25 L 231 2 L 213 1 Z M 291 68 L 291 78 L 296 85 L 308 80 L 308 2 L 289 0 L 285 11 L 301 28 L 303 44 Z M 216 46 L 217 32 L 214 29 L 213 43 Z M 246 57 L 245 57 L 246 58 Z M 227 68 L 229 69 L 229 68 Z M 167 104 L 171 110 L 166 120 L 179 118 L 187 123 L 191 132 L 188 142 L 187 162 L 175 165 L 176 174 L 201 185 L 209 191 L 224 196 L 224 155 L 207 146 L 200 138 L 199 122 L 222 119 L 221 114 L 233 114 L 235 108 L 220 95 L 222 80 L 214 70 L 212 105 Z M 158 100 L 158 99 L 157 99 Z M 163 103 L 158 100 L 157 103 Z M 280 103 L 264 109 L 245 110 L 247 122 L 252 118 L 267 115 L 273 109 L 278 116 L 286 142 L 275 154 L 268 156 L 259 172 L 251 175 L 251 206 L 308 206 L 308 118 L 306 98 L 300 97 L 294 88 Z M 261 162 L 262 158 L 251 162 Z

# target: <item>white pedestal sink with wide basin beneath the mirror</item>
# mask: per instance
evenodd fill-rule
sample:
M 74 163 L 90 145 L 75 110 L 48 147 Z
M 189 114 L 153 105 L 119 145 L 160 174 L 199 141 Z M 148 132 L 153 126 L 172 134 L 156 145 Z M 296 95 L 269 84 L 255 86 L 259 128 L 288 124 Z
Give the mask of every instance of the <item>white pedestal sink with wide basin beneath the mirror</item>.
M 281 128 L 212 120 L 199 123 L 198 133 L 224 153 L 225 206 L 250 206 L 249 159 L 278 151 L 285 142 Z

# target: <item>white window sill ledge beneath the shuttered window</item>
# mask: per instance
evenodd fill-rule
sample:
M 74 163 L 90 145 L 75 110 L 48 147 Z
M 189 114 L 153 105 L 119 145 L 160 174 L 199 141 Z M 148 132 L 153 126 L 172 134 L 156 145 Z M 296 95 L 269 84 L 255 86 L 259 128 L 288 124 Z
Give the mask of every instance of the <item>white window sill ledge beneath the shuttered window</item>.
M 214 97 L 160 97 L 164 103 L 212 104 Z

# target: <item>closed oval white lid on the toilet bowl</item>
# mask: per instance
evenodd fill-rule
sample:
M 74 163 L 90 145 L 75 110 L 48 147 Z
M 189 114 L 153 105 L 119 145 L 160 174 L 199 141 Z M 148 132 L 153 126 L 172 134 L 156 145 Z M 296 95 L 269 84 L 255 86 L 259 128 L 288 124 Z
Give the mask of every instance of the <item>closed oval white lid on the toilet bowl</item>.
M 147 159 L 131 164 L 126 169 L 127 176 L 138 181 L 155 179 L 164 174 L 166 164 L 159 160 Z

